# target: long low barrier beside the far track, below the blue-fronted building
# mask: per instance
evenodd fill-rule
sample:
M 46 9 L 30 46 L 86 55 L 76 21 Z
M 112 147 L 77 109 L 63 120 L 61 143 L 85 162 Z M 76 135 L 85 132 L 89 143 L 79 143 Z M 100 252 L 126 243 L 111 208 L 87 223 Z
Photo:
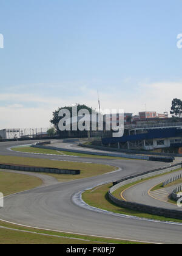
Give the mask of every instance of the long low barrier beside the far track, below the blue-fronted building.
M 40 148 L 40 149 L 52 149 L 56 151 L 65 151 L 65 152 L 73 152 L 73 153 L 80 153 L 80 154 L 87 154 L 87 155 L 101 155 L 105 157 L 124 157 L 124 158 L 130 158 L 130 159 L 139 159 L 139 160 L 149 160 L 149 161 L 160 161 L 160 162 L 173 162 L 173 158 L 170 157 L 149 157 L 144 155 L 129 155 L 129 154 L 115 154 L 115 153 L 104 153 L 104 152 L 93 152 L 93 151 L 81 151 L 78 149 L 65 149 L 65 148 L 56 148 L 53 146 L 42 146 L 40 144 L 32 145 L 33 148 Z M 156 160 L 158 159 L 158 160 Z

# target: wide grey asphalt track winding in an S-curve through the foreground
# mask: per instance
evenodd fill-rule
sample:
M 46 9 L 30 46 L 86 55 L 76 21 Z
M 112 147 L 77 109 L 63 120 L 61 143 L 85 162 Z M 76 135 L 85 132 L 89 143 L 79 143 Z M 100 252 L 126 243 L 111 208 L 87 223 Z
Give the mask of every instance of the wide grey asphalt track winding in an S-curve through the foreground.
M 118 180 L 131 174 L 141 173 L 168 164 L 144 160 L 110 160 L 94 157 L 34 155 L 8 151 L 7 149 L 11 146 L 29 143 L 31 141 L 1 143 L 0 155 L 102 163 L 118 166 L 122 170 L 102 176 L 89 177 L 87 179 L 56 183 L 5 197 L 5 206 L 0 208 L 0 219 L 42 229 L 120 238 L 124 240 L 148 241 L 153 243 L 182 242 L 182 226 L 104 215 L 81 208 L 72 201 L 75 193 L 93 185 L 111 182 L 112 180 Z

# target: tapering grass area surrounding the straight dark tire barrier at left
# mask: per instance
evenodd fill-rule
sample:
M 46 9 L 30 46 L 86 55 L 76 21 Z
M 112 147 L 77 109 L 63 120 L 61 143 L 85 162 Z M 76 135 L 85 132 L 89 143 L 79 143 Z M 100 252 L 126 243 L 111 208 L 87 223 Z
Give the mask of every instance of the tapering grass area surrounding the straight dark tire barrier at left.
M 115 171 L 114 166 L 101 165 L 96 163 L 79 163 L 79 162 L 67 162 L 67 161 L 52 161 L 48 159 L 29 158 L 29 157 L 12 157 L 12 156 L 0 156 L 0 163 L 7 164 L 19 164 L 29 166 L 39 166 L 47 168 L 62 168 L 62 169 L 79 169 L 80 175 L 68 175 L 68 174 L 49 174 L 46 175 L 55 177 L 59 182 L 83 179 L 87 177 L 98 176 L 107 172 Z M 45 173 L 44 173 L 45 174 Z

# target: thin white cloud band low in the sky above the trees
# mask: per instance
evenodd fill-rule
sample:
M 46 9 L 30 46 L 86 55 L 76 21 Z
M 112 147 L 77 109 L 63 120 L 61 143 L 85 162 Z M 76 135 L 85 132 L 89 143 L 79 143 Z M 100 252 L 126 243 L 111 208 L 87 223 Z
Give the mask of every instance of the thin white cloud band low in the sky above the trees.
M 101 108 L 104 109 L 124 109 L 124 112 L 136 114 L 145 109 L 163 113 L 170 111 L 172 99 L 182 95 L 181 82 L 157 82 L 152 84 L 136 85 L 136 94 L 124 94 L 122 90 L 112 90 L 99 92 Z M 81 96 L 65 97 L 44 97 L 36 94 L 1 94 L 0 101 L 4 105 L 0 107 L 1 129 L 13 127 L 49 127 L 52 112 L 58 107 L 72 105 L 76 102 L 86 104 L 93 108 L 98 108 L 97 92 L 83 87 Z M 13 102 L 8 105 L 6 101 Z M 30 102 L 32 107 L 24 107 L 25 103 Z M 43 104 L 44 106 L 42 107 Z M 2 105 L 2 102 L 1 102 Z M 35 107 L 36 105 L 36 107 Z

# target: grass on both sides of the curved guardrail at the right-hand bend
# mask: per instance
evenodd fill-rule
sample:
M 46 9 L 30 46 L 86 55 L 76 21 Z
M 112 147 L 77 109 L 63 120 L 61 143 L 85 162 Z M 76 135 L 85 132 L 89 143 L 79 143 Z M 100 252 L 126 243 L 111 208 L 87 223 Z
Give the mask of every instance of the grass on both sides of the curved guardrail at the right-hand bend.
M 132 184 L 127 184 L 127 185 L 121 187 L 120 189 L 116 190 L 113 193 L 113 196 L 116 196 L 119 199 L 121 199 L 120 194 L 123 190 L 126 190 L 126 188 L 129 188 L 131 185 L 135 185 L 136 183 L 140 183 L 140 182 L 141 182 L 141 180 L 139 182 L 135 182 L 135 183 L 132 183 Z M 141 213 L 141 212 L 137 212 L 137 211 L 134 211 L 134 210 L 130 210 L 130 209 L 127 209 L 127 208 L 120 207 L 120 206 L 114 204 L 109 199 L 108 191 L 110 190 L 111 187 L 112 187 L 112 183 L 109 183 L 109 184 L 106 184 L 106 185 L 101 185 L 97 188 L 93 188 L 92 190 L 87 190 L 83 193 L 83 200 L 87 204 L 89 204 L 93 207 L 101 208 L 103 210 L 107 210 L 107 211 L 114 212 L 114 213 L 121 213 L 121 214 L 124 214 L 124 215 L 138 216 L 140 218 L 147 218 L 147 219 L 157 219 L 157 220 L 160 220 L 160 221 L 182 222 L 182 220 L 180 220 L 180 219 L 165 218 L 163 216 L 150 215 L 150 214 L 147 214 L 147 213 Z

